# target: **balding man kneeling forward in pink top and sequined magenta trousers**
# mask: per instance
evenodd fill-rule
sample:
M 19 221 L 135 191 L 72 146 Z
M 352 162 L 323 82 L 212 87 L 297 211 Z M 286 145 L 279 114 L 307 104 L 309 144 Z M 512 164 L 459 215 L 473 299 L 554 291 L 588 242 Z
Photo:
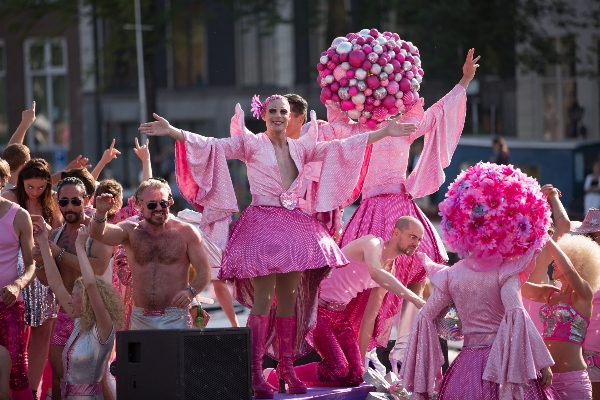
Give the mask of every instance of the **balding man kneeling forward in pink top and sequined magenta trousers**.
M 367 235 L 342 249 L 350 264 L 334 269 L 321 282 L 319 291 L 317 326 L 312 340 L 323 361 L 295 367 L 302 381 L 315 386 L 356 386 L 362 382 L 363 359 L 371 336 L 357 339 L 345 308 L 358 293 L 368 289 L 383 293 L 389 290 L 416 307 L 423 307 L 423 299 L 393 275 L 396 257 L 414 254 L 423 233 L 419 220 L 405 216 L 398 219 L 388 240 Z M 269 381 L 275 383 L 274 378 L 271 373 Z

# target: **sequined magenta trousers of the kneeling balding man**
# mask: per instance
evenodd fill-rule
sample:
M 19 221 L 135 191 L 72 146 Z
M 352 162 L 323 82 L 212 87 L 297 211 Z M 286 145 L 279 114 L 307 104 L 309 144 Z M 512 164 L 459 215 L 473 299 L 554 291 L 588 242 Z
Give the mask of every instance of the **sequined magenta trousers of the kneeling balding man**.
M 313 335 L 315 350 L 323 359 L 317 366 L 319 380 L 338 382 L 340 386 L 360 384 L 363 360 L 346 314 L 319 307 Z

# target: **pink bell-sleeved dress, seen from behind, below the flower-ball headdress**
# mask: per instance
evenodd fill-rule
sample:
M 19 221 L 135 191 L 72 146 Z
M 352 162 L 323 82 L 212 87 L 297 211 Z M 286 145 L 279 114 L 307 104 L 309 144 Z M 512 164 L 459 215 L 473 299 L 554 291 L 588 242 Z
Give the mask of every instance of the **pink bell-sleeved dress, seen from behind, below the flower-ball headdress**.
M 464 346 L 441 381 L 438 399 L 560 399 L 539 384 L 540 369 L 554 361 L 521 302 L 534 251 L 486 272 L 471 269 L 478 261 L 469 258 L 450 268 L 423 258 L 435 289 L 415 319 L 400 371 L 413 398 L 426 399 L 438 389 L 444 357 L 434 320 L 454 302 Z

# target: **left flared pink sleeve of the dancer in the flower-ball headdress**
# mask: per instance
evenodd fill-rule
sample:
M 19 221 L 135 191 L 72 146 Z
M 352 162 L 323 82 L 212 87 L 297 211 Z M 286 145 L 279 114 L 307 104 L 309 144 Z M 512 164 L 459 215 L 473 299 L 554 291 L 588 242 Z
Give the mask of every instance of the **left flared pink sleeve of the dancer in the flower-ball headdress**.
M 413 399 L 429 399 L 442 379 L 444 355 L 435 329 L 435 318 L 452 301 L 448 293 L 447 269 L 436 273 L 433 294 L 421 309 L 410 332 L 400 379 L 413 392 Z

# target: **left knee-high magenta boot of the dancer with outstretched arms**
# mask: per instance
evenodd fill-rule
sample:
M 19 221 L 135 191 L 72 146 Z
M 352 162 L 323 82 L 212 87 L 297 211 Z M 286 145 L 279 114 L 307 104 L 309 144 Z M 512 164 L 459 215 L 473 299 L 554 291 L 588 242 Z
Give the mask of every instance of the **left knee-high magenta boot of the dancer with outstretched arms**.
M 275 390 L 265 381 L 262 374 L 262 358 L 265 354 L 269 316 L 250 314 L 246 326 L 252 331 L 252 389 L 254 390 L 254 398 L 272 399 Z

